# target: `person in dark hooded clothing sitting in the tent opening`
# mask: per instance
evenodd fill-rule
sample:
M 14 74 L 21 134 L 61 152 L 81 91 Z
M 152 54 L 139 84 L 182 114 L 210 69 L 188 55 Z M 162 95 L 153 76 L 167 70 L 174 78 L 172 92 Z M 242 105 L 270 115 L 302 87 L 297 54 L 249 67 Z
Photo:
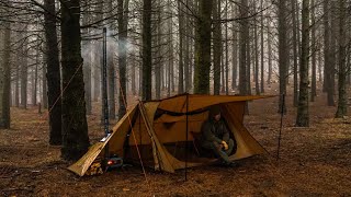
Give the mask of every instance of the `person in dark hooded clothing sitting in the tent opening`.
M 203 123 L 202 128 L 202 147 L 212 150 L 226 166 L 235 166 L 229 161 L 229 155 L 234 148 L 234 140 L 229 138 L 229 131 L 220 117 L 220 107 L 214 105 L 210 108 L 208 119 Z

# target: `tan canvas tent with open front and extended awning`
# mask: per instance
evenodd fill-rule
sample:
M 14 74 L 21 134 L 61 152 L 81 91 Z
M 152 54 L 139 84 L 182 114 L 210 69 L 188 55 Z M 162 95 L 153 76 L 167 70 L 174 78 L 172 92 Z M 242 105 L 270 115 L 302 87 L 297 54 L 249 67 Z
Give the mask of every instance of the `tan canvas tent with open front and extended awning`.
M 131 107 L 113 127 L 104 140 L 90 147 L 89 151 L 68 169 L 83 176 L 97 158 L 109 152 L 126 161 L 141 163 L 157 171 L 173 173 L 176 170 L 204 165 L 215 158 L 199 154 L 195 134 L 208 118 L 208 108 L 219 105 L 227 126 L 235 137 L 237 148 L 230 160 L 261 154 L 264 149 L 242 125 L 247 101 L 269 96 L 196 95 L 182 94 L 173 97 L 139 102 Z M 196 151 L 194 151 L 196 150 Z

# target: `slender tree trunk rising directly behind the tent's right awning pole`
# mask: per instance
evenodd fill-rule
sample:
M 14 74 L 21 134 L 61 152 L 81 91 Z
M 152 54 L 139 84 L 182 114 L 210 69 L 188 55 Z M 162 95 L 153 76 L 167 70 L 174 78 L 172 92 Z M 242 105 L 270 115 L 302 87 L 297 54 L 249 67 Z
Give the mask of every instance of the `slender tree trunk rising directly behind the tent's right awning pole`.
M 287 26 L 286 26 L 286 0 L 279 0 L 279 92 L 280 94 L 286 94 L 286 69 L 288 66 L 288 53 L 287 50 Z M 282 96 L 281 96 L 282 97 Z M 286 105 L 279 101 L 279 113 L 286 113 Z

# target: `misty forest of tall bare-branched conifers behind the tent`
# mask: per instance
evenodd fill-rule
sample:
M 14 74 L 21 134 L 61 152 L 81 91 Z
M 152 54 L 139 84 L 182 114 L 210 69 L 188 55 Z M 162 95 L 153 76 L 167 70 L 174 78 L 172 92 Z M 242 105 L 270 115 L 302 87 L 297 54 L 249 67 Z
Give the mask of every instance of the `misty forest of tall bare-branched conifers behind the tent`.
M 90 144 L 87 115 L 101 105 L 107 28 L 109 114 L 131 95 L 293 95 L 296 126 L 326 96 L 347 116 L 349 0 L 1 0 L 0 128 L 11 107 L 48 112 L 49 143 L 77 160 Z M 288 84 L 293 89 L 288 89 Z M 320 89 L 317 89 L 319 86 Z M 272 92 L 270 92 L 272 94 Z M 278 113 L 287 108 L 280 96 Z

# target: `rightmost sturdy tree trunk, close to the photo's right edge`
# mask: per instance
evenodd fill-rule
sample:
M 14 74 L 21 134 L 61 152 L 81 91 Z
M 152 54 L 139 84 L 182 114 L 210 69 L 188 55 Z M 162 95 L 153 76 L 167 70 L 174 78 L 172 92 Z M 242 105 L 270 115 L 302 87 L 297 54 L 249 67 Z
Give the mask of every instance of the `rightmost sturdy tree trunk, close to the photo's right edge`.
M 347 100 L 347 45 L 346 37 L 346 0 L 339 0 L 339 72 L 338 72 L 338 111 L 337 118 L 341 118 L 348 114 Z

